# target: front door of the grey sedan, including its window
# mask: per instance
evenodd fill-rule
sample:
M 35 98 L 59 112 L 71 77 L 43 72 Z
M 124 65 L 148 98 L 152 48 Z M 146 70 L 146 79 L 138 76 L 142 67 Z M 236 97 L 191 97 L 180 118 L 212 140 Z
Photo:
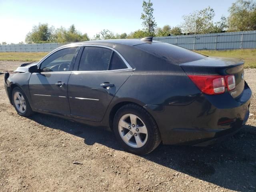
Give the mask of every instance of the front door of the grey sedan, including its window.
M 77 46 L 57 50 L 40 63 L 38 73 L 31 74 L 29 90 L 34 109 L 70 116 L 67 86 L 77 51 Z

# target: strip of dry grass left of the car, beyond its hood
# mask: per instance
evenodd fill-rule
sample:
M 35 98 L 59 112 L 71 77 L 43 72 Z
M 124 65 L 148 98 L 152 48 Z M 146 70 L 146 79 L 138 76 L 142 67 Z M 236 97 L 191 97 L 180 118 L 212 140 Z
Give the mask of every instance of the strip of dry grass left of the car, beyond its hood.
M 0 52 L 0 60 L 7 61 L 39 61 L 48 52 Z

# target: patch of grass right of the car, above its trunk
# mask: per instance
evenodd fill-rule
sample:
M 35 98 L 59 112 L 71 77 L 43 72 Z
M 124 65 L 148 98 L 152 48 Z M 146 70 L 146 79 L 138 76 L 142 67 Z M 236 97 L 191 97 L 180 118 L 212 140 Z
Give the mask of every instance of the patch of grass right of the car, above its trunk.
M 230 57 L 244 60 L 244 68 L 256 68 L 256 49 L 227 50 L 227 51 L 197 51 L 213 57 Z

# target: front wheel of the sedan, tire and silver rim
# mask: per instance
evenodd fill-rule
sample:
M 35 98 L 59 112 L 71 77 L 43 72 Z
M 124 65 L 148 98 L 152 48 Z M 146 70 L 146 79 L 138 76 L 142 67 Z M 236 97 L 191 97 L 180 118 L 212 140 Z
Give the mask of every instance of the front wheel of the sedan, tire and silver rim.
M 20 103 L 22 103 L 22 106 Z M 12 90 L 12 104 L 20 116 L 28 117 L 33 113 L 28 98 L 18 87 Z

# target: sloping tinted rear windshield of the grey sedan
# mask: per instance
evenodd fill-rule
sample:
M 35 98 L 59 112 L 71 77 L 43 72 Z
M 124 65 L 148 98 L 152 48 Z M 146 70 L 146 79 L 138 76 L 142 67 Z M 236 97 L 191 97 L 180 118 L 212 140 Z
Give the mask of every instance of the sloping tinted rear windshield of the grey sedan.
M 145 43 L 135 47 L 168 60 L 173 64 L 182 64 L 206 58 L 204 55 L 169 43 Z

